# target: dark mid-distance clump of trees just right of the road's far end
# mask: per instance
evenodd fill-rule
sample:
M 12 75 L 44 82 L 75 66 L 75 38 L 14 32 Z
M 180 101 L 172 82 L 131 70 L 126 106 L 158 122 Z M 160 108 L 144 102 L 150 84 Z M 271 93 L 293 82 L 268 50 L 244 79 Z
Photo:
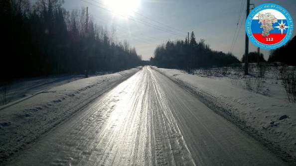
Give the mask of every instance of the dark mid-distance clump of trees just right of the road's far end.
M 176 68 L 192 70 L 195 68 L 221 67 L 240 63 L 231 53 L 213 51 L 204 40 L 196 42 L 194 32 L 190 40 L 167 41 L 156 47 L 154 58 L 150 58 L 152 65 L 162 68 Z

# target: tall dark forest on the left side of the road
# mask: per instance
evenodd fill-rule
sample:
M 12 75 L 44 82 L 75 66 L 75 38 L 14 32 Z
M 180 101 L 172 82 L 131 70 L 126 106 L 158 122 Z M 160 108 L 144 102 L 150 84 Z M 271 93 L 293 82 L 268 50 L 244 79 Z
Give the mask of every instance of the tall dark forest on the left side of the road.
M 67 11 L 63 0 L 1 0 L 1 81 L 60 74 L 119 71 L 141 57 L 127 42 L 115 43 L 108 31 L 86 15 Z M 110 35 L 112 36 L 112 35 Z

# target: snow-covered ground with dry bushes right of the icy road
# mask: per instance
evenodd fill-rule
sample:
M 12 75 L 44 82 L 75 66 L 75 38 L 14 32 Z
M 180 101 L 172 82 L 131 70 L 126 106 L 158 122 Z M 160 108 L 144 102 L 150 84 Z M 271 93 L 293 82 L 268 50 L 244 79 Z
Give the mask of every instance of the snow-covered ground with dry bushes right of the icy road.
M 201 77 L 153 68 L 197 94 L 206 105 L 248 131 L 282 159 L 296 161 L 296 104 L 289 103 L 281 80 L 265 78 L 256 93 L 246 89 L 243 77 Z

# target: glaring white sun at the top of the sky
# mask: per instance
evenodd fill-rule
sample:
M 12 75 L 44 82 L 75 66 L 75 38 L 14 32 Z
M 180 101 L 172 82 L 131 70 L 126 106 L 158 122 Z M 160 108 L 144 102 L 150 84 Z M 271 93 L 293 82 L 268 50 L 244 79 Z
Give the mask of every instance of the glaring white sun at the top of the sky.
M 104 3 L 114 13 L 129 16 L 138 9 L 140 0 L 104 0 Z

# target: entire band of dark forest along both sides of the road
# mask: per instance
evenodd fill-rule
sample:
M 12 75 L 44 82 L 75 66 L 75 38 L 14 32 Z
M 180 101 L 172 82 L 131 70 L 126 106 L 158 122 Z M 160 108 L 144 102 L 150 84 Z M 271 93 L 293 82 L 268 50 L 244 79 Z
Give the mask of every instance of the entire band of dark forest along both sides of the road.
M 205 40 L 196 41 L 194 32 L 185 40 L 167 41 L 154 50 L 150 61 L 142 61 L 128 42 L 115 42 L 104 25 L 87 16 L 86 8 L 68 11 L 63 0 L 1 0 L 2 44 L 0 82 L 14 79 L 117 72 L 139 65 L 192 70 L 240 63 L 231 53 L 212 50 Z M 296 65 L 292 55 L 294 37 L 271 52 L 268 62 Z M 265 62 L 256 52 L 250 63 Z M 242 59 L 244 62 L 244 58 Z

